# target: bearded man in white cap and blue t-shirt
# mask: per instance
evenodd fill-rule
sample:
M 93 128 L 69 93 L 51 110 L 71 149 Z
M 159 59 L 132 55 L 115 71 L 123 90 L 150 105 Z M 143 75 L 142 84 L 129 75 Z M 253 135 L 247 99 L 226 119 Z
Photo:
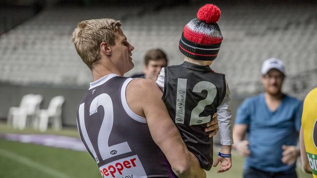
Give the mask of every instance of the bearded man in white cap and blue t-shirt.
M 244 156 L 244 178 L 297 178 L 297 139 L 302 102 L 281 92 L 283 61 L 270 58 L 261 68 L 264 93 L 247 98 L 238 108 L 234 148 Z M 242 140 L 248 133 L 248 140 Z

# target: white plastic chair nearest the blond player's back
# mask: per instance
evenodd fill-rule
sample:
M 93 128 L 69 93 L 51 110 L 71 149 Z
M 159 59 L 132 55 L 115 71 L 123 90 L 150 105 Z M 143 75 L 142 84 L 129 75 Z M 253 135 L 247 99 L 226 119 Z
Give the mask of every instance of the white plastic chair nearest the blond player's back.
M 55 96 L 51 99 L 47 109 L 40 109 L 40 131 L 44 132 L 49 123 L 52 124 L 52 128 L 55 130 L 62 128 L 61 107 L 64 101 L 65 98 L 63 96 Z

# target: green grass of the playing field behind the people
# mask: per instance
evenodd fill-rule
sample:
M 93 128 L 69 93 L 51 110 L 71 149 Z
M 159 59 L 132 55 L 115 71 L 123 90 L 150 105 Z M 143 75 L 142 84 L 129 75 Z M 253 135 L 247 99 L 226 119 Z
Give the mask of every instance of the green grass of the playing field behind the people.
M 78 137 L 77 129 L 63 131 L 14 130 L 0 124 L 0 133 L 57 134 Z M 215 149 L 215 152 L 217 150 Z M 233 154 L 233 167 L 217 174 L 216 169 L 207 172 L 207 178 L 241 178 L 243 158 Z M 297 169 L 299 178 L 311 175 Z M 53 148 L 29 143 L 0 139 L 0 178 L 100 178 L 97 164 L 86 152 Z

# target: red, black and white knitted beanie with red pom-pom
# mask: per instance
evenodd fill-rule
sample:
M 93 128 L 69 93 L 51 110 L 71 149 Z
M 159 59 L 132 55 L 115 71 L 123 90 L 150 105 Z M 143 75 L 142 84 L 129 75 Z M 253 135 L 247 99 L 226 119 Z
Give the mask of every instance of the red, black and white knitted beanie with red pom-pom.
M 197 60 L 216 59 L 223 39 L 216 23 L 220 13 L 220 9 L 213 4 L 200 7 L 197 18 L 192 19 L 184 27 L 179 40 L 180 52 Z

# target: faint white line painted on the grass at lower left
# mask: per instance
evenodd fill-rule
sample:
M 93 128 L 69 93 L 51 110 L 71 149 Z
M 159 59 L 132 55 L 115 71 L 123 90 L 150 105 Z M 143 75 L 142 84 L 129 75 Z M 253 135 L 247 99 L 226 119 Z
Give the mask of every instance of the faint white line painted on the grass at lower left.
M 9 158 L 11 160 L 15 160 L 17 162 L 20 162 L 22 164 L 25 164 L 26 166 L 29 166 L 31 168 L 37 169 L 43 173 L 49 174 L 55 178 L 70 178 L 69 176 L 67 176 L 67 175 L 65 175 L 65 174 L 63 174 L 55 169 L 47 167 L 39 162 L 35 162 L 33 160 L 30 160 L 26 157 L 17 155 L 11 151 L 7 151 L 7 150 L 0 148 L 0 155 L 4 156 L 6 158 Z

